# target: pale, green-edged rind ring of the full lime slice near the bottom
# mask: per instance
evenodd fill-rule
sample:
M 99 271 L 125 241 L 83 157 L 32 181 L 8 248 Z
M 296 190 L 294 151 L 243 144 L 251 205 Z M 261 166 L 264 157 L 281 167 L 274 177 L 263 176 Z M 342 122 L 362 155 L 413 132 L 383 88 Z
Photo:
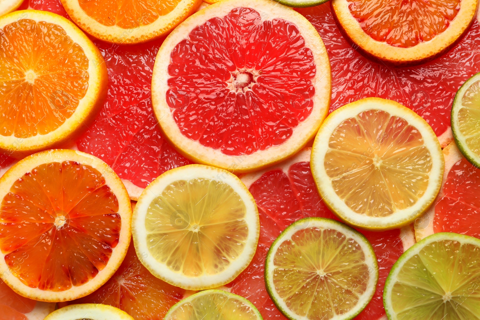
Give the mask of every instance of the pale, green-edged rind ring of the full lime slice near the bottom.
M 378 263 L 377 258 L 375 256 L 375 252 L 373 251 L 372 245 L 367 240 L 365 236 L 363 236 L 360 232 L 356 231 L 355 229 L 349 227 L 348 225 L 344 225 L 341 222 L 327 219 L 327 218 L 317 218 L 317 217 L 308 217 L 300 219 L 293 224 L 289 225 L 282 233 L 275 239 L 272 243 L 270 249 L 268 249 L 268 253 L 265 260 L 265 286 L 268 292 L 268 295 L 272 298 L 273 302 L 275 303 L 278 310 L 282 312 L 282 314 L 290 320 L 308 320 L 309 318 L 306 316 L 300 316 L 293 311 L 291 311 L 287 304 L 283 301 L 283 299 L 278 295 L 275 290 L 275 284 L 273 283 L 273 274 L 274 274 L 274 259 L 276 255 L 277 249 L 280 245 L 285 241 L 291 239 L 291 237 L 299 230 L 305 229 L 307 227 L 315 227 L 319 229 L 333 229 L 342 233 L 348 238 L 354 239 L 361 247 L 364 256 L 365 256 L 365 263 L 368 265 L 369 270 L 369 278 L 367 281 L 367 289 L 366 291 L 360 296 L 358 303 L 351 308 L 348 312 L 342 315 L 336 315 L 332 320 L 350 320 L 355 318 L 372 300 L 373 295 L 375 294 L 376 285 L 378 281 Z M 348 256 L 342 256 L 343 260 L 347 260 Z M 332 295 L 332 293 L 329 293 Z M 335 303 L 335 301 L 332 301 Z

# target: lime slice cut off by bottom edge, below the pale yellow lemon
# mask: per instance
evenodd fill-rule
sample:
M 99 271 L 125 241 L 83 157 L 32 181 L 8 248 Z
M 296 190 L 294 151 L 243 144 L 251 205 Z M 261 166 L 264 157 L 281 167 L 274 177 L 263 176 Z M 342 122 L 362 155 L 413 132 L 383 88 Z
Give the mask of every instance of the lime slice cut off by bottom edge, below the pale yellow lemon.
M 260 312 L 242 296 L 204 290 L 173 305 L 164 320 L 262 320 Z

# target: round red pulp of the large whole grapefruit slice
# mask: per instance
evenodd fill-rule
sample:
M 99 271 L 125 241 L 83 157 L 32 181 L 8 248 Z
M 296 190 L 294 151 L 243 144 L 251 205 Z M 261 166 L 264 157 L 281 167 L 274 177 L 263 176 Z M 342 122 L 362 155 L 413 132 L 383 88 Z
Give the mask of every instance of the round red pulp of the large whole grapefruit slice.
M 236 8 L 174 48 L 167 103 L 184 136 L 224 154 L 252 154 L 287 141 L 310 115 L 315 72 L 294 24 Z

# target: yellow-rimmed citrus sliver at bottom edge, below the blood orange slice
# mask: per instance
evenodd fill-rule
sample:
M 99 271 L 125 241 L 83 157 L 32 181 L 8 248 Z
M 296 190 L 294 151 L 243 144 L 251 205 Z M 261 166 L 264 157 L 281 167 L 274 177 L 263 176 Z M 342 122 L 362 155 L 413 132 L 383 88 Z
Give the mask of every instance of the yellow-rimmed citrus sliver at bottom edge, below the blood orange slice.
M 124 311 L 99 304 L 72 305 L 50 313 L 45 320 L 133 320 Z

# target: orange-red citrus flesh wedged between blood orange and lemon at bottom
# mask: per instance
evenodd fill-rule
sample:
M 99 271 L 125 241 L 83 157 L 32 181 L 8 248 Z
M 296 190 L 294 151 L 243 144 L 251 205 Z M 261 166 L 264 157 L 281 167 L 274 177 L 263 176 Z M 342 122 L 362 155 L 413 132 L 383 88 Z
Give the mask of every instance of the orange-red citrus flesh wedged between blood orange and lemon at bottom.
M 142 265 L 131 241 L 120 268 L 106 284 L 64 304 L 102 303 L 122 309 L 135 320 L 163 320 L 168 309 L 184 295 L 185 289 L 156 278 Z

